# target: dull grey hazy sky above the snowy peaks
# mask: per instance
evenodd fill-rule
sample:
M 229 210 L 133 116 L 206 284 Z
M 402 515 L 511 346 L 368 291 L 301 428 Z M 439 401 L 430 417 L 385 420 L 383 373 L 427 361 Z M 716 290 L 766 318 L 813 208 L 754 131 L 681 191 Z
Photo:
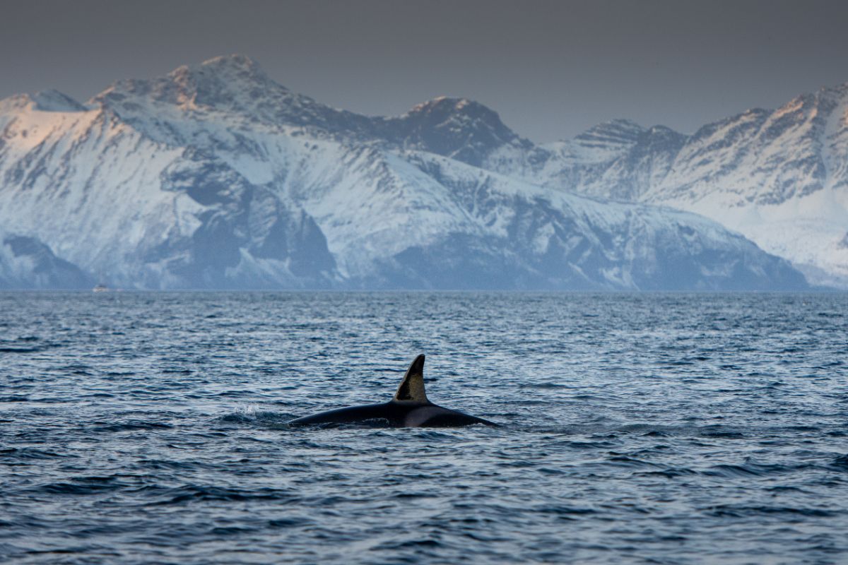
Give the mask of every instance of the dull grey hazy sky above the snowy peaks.
M 364 114 L 448 95 L 533 141 L 617 117 L 689 132 L 848 82 L 848 2 L 0 0 L 0 97 L 85 100 L 226 53 Z

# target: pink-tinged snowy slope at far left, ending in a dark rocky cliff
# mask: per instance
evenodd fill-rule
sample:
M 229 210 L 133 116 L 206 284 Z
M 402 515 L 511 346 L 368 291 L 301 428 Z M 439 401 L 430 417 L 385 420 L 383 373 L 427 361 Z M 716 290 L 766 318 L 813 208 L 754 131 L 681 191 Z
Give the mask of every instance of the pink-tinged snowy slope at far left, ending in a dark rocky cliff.
M 336 276 L 302 209 L 214 156 L 157 141 L 109 108 L 15 104 L 0 138 L 6 230 L 123 287 L 326 286 Z

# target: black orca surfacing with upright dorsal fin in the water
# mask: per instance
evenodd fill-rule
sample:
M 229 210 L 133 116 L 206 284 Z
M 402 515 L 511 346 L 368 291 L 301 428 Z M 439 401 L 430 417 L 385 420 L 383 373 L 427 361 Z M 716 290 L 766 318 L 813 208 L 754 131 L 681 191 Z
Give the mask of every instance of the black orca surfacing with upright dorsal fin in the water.
M 483 418 L 437 406 L 424 391 L 424 356 L 419 355 L 406 369 L 398 391 L 389 402 L 338 408 L 291 420 L 289 425 L 371 424 L 389 428 L 456 428 L 472 424 L 497 426 Z

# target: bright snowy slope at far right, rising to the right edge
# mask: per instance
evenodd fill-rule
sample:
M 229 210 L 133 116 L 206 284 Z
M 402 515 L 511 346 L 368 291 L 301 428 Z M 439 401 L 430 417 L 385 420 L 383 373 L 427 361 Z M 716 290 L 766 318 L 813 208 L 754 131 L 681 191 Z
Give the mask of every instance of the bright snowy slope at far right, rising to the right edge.
M 848 287 L 848 86 L 699 130 L 642 200 L 720 219 Z

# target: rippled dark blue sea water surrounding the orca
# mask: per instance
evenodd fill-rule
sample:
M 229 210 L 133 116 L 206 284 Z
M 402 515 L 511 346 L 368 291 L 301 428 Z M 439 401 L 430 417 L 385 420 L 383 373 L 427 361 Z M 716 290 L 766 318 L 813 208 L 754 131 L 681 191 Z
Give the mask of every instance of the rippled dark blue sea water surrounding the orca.
M 292 429 L 388 400 L 499 428 Z M 0 562 L 845 563 L 845 294 L 3 293 Z

